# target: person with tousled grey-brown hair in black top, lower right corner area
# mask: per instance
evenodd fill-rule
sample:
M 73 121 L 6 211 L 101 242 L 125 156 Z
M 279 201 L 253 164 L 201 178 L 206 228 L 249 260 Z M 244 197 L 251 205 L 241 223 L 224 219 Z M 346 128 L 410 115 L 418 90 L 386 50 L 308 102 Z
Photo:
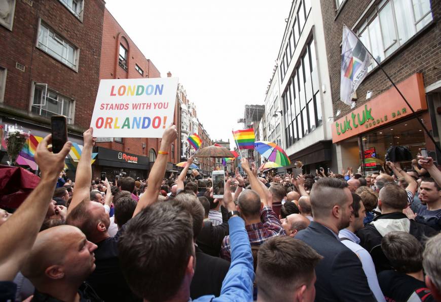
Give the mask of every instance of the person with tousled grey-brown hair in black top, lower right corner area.
M 383 237 L 381 248 L 394 268 L 378 274 L 378 281 L 386 299 L 434 301 L 434 296 L 424 283 L 421 243 L 407 232 L 390 232 Z M 439 263 L 439 258 L 437 262 Z

